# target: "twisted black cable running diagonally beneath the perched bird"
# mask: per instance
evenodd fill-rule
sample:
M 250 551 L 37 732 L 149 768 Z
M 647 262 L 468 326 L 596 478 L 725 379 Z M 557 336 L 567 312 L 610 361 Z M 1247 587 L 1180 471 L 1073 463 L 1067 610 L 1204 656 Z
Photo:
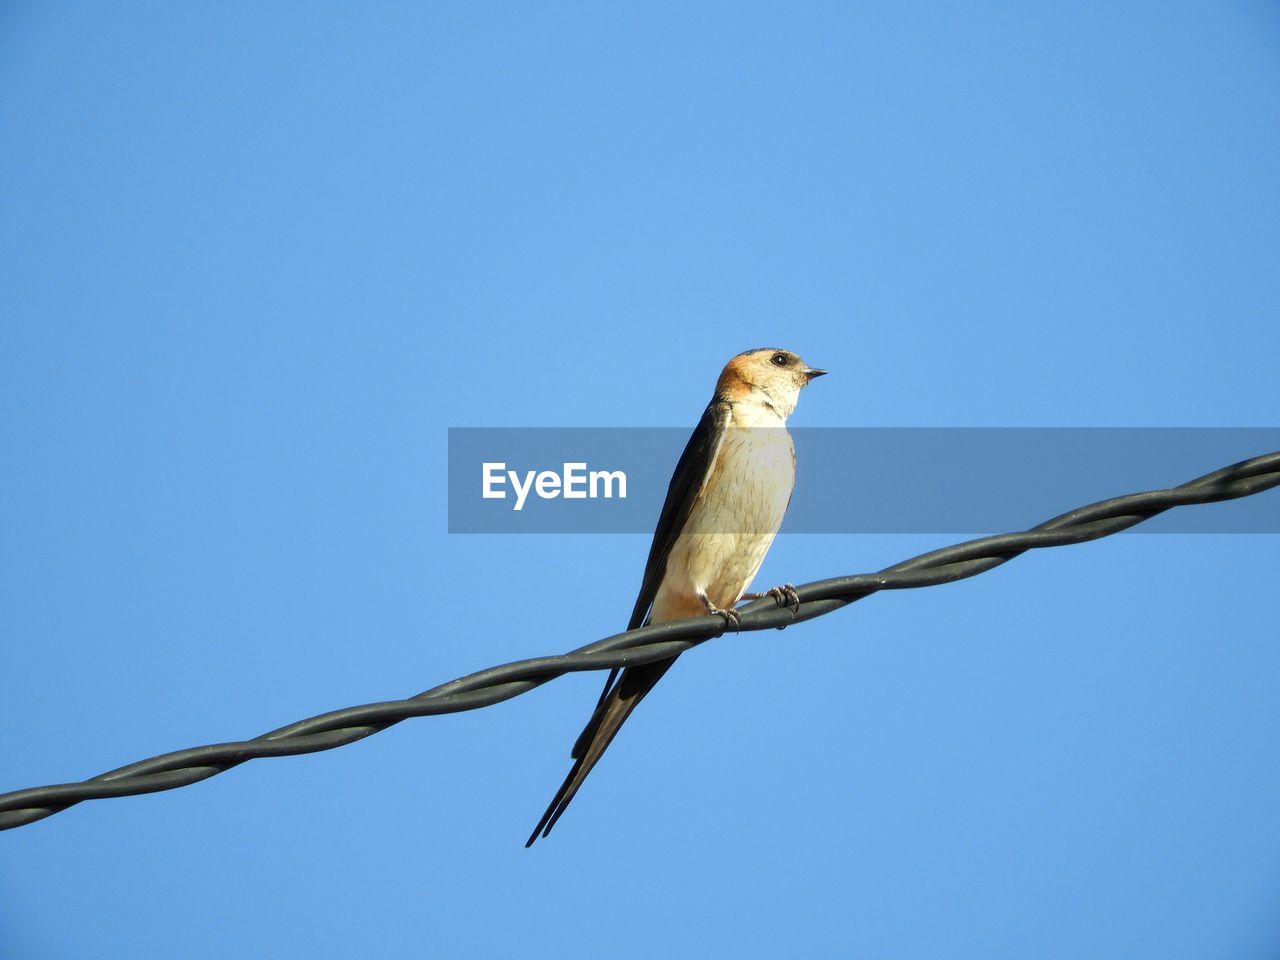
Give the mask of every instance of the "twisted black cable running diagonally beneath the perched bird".
M 740 608 L 741 630 L 769 630 L 822 617 L 878 590 L 950 584 L 983 573 L 1030 549 L 1065 547 L 1117 534 L 1172 507 L 1216 503 L 1280 485 L 1280 452 L 1242 461 L 1169 490 L 1116 497 L 1073 509 L 1018 534 L 968 540 L 895 563 L 878 573 L 833 577 L 796 588 L 799 607 L 772 599 Z M 609 669 L 672 657 L 719 636 L 722 617 L 691 617 L 580 646 L 559 657 L 538 657 L 471 673 L 406 700 L 348 707 L 291 723 L 253 740 L 210 744 L 131 763 L 79 783 L 58 783 L 0 794 L 0 829 L 20 827 L 82 800 L 136 796 L 196 783 L 246 760 L 332 750 L 410 717 L 475 710 L 529 692 L 577 671 Z

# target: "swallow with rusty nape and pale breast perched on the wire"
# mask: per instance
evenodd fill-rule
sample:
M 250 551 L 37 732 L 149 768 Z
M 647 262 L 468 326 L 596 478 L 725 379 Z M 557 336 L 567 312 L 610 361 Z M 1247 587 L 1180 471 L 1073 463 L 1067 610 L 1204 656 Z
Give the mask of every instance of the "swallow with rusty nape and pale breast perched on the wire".
M 737 626 L 735 605 L 762 596 L 799 607 L 791 584 L 762 594 L 746 588 L 782 526 L 795 486 L 787 417 L 800 390 L 826 372 L 777 347 L 749 349 L 724 365 L 667 488 L 627 630 L 696 616 Z M 552 832 L 618 728 L 675 662 L 669 657 L 609 673 L 570 753 L 573 765 L 526 847 Z

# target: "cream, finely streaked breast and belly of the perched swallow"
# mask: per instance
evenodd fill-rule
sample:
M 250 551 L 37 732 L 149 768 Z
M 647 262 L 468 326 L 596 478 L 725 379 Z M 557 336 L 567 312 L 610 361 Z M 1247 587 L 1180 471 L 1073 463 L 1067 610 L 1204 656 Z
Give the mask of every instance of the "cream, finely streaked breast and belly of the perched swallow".
M 732 607 L 755 579 L 791 499 L 795 448 L 771 407 L 736 403 L 703 495 L 667 559 L 653 620 L 703 613 L 699 591 Z

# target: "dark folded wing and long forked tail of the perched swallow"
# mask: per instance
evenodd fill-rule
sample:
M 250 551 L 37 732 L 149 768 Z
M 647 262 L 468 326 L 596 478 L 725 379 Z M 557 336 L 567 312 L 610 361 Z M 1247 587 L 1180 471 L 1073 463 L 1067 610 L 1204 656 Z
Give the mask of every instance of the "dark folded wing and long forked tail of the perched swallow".
M 724 439 L 728 421 L 730 404 L 724 401 L 713 399 L 707 406 L 707 411 L 703 413 L 703 419 L 698 422 L 698 426 L 694 428 L 689 443 L 685 444 L 685 452 L 680 456 L 680 461 L 676 463 L 676 472 L 672 475 L 671 484 L 667 488 L 667 499 L 662 504 L 662 513 L 658 515 L 658 527 L 654 530 L 653 545 L 649 548 L 649 559 L 644 568 L 644 579 L 640 581 L 640 595 L 636 598 L 636 605 L 631 611 L 627 630 L 635 630 L 649 620 L 649 612 L 653 608 L 654 598 L 658 595 L 658 588 L 662 585 L 662 579 L 667 575 L 667 558 L 671 556 L 671 549 L 675 547 L 676 539 L 685 529 L 685 522 L 689 520 L 689 511 L 707 485 L 707 477 L 710 474 L 712 463 L 716 462 L 721 442 Z M 573 744 L 571 753 L 573 767 L 570 769 L 561 788 L 556 791 L 556 796 L 552 799 L 543 818 L 538 822 L 538 826 L 534 827 L 534 832 L 525 846 L 532 845 L 539 835 L 545 837 L 552 832 L 556 820 L 564 813 L 573 795 L 577 794 L 577 788 L 586 780 L 586 774 L 591 772 L 596 760 L 600 759 L 600 755 L 613 741 L 623 721 L 631 716 L 631 710 L 636 708 L 640 700 L 644 699 L 644 695 L 653 689 L 654 684 L 662 678 L 662 675 L 675 662 L 676 658 L 672 657 L 666 660 L 627 667 L 625 671 L 621 671 L 621 677 L 618 676 L 620 671 L 616 668 L 609 672 L 609 678 L 604 682 L 604 692 L 600 694 L 595 712 Z

